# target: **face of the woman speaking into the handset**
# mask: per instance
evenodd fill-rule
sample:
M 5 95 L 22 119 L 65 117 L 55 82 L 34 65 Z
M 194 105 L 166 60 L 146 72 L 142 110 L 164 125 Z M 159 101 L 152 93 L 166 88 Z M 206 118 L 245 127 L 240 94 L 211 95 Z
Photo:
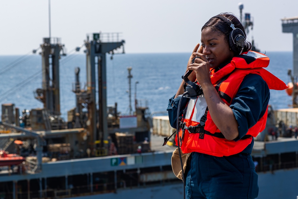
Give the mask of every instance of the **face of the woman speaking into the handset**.
M 224 34 L 205 28 L 201 33 L 203 54 L 210 63 L 210 68 L 216 68 L 232 59 L 234 52 L 225 41 Z

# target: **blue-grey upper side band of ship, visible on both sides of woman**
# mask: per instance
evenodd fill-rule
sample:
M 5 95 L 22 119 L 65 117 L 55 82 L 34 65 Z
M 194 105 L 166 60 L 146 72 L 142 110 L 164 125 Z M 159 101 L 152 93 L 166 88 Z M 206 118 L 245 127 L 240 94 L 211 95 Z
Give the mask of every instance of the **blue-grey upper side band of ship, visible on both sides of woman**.
M 88 167 L 89 172 L 106 172 L 111 170 L 123 170 L 123 169 L 135 169 L 154 166 L 167 166 L 171 165 L 172 152 L 177 146 L 162 146 L 164 142 L 162 135 L 151 136 L 151 152 L 138 153 L 138 154 L 126 154 L 126 155 L 114 155 L 105 157 L 94 158 L 80 158 L 62 160 L 56 162 L 42 163 L 42 171 L 40 173 L 32 175 L 15 175 L 13 169 L 4 168 L 0 171 L 0 182 L 7 181 L 8 175 L 12 180 L 25 180 L 28 178 L 44 178 L 54 176 L 65 176 L 65 174 L 75 175 L 81 174 L 86 171 Z M 295 138 L 281 138 L 279 137 L 275 141 L 255 141 L 252 151 L 252 156 L 261 157 L 270 154 L 279 154 L 298 151 L 298 140 Z M 141 159 L 138 159 L 140 158 Z M 112 165 L 112 159 L 125 159 L 125 164 Z M 140 162 L 138 162 L 140 161 Z M 100 167 L 98 165 L 101 165 Z

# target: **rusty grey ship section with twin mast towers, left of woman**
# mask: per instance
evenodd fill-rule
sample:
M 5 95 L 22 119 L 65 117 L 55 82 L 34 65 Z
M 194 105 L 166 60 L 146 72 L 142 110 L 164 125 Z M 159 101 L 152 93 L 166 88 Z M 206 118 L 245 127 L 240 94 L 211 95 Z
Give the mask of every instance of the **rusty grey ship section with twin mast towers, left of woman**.
M 129 115 L 119 115 L 117 104 L 107 107 L 106 53 L 124 53 L 124 43 L 119 33 L 87 34 L 86 87 L 81 86 L 80 68 L 76 68 L 76 107 L 69 110 L 68 121 L 64 121 L 60 113 L 59 59 L 66 50 L 59 38 L 44 38 L 42 88 L 34 92 L 44 107 L 24 111 L 19 121 L 14 104 L 2 105 L 2 131 L 9 130 L 0 134 L 1 144 L 11 152 L 15 148 L 6 145 L 16 146 L 17 155 L 26 157 L 18 165 L 7 163 L 1 172 L 0 192 L 5 197 L 94 195 L 173 179 L 168 163 L 162 163 L 168 162 L 169 154 L 150 152 L 152 122 L 148 102 L 135 99 L 132 112 L 130 97 Z M 129 67 L 129 80 L 131 70 Z M 15 145 L 14 140 L 22 144 Z M 144 152 L 150 153 L 143 155 Z M 147 174 L 153 171 L 157 174 Z M 78 191 L 82 186 L 86 189 Z

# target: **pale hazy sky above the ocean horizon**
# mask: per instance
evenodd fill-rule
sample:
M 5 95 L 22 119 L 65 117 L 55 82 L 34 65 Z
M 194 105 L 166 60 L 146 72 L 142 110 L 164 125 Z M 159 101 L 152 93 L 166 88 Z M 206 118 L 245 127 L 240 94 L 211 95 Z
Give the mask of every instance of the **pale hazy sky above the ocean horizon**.
M 240 16 L 238 0 L 51 0 L 51 36 L 67 51 L 84 43 L 87 33 L 120 32 L 125 53 L 191 53 L 201 27 L 219 13 Z M 293 34 L 282 33 L 281 18 L 298 16 L 297 0 L 243 1 L 251 13 L 248 41 L 265 51 L 292 51 Z M 48 0 L 0 1 L 0 55 L 24 55 L 49 37 Z

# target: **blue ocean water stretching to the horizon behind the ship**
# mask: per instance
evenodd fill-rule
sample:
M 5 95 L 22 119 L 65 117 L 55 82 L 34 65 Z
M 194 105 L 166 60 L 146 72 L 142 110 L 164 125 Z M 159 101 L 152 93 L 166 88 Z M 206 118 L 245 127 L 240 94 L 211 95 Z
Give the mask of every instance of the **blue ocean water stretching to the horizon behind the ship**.
M 292 52 L 266 52 L 270 58 L 267 70 L 285 83 L 290 81 L 288 69 L 293 68 Z M 107 101 L 117 102 L 118 112 L 129 114 L 128 67 L 131 74 L 131 102 L 134 97 L 148 100 L 151 112 L 166 111 L 168 99 L 178 89 L 186 70 L 190 53 L 107 54 Z M 80 81 L 86 84 L 86 55 L 72 53 L 60 59 L 60 112 L 67 120 L 67 111 L 75 107 L 75 68 L 80 68 Z M 138 83 L 136 83 L 138 82 Z M 42 86 L 41 55 L 0 56 L 0 104 L 13 103 L 23 109 L 43 107 L 33 92 Z M 135 93 L 136 91 L 136 93 Z M 274 109 L 288 108 L 291 96 L 271 90 L 269 104 Z M 98 101 L 98 97 L 97 97 Z M 0 107 L 1 108 L 1 107 Z M 134 109 L 134 108 L 133 108 Z

